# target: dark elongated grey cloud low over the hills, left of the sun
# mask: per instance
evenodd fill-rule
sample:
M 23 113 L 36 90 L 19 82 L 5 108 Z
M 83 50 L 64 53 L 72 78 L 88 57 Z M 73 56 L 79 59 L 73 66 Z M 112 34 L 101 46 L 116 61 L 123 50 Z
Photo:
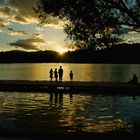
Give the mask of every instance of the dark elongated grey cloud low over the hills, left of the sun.
M 16 48 L 22 48 L 24 50 L 41 50 L 40 46 L 47 43 L 41 38 L 29 38 L 29 39 L 19 39 L 16 42 L 9 43 L 11 46 Z

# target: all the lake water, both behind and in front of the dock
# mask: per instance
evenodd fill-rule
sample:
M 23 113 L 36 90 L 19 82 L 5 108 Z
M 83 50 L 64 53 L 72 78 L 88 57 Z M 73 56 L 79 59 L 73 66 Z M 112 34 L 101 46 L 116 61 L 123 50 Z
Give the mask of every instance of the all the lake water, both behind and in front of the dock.
M 0 64 L 0 80 L 49 80 L 50 68 L 73 70 L 75 81 L 128 81 L 139 64 Z M 113 93 L 112 93 L 113 94 Z M 0 130 L 22 132 L 132 131 L 140 125 L 140 96 L 0 92 Z

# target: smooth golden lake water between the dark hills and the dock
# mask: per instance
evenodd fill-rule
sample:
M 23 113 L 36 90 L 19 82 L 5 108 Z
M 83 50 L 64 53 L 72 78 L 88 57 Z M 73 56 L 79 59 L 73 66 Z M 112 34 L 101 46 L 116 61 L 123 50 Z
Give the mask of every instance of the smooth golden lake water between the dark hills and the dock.
M 140 77 L 140 64 L 30 63 L 0 64 L 0 79 L 49 80 L 50 68 L 64 69 L 63 80 L 73 70 L 75 81 L 128 81 L 133 73 Z

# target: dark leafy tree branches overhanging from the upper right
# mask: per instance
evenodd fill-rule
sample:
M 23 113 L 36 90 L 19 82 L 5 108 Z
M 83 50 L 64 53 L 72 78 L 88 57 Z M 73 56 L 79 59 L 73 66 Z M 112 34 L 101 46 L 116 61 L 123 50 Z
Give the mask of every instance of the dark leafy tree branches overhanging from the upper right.
M 66 20 L 64 31 L 80 48 L 108 46 L 121 41 L 124 27 L 140 27 L 139 0 L 39 0 L 34 10 L 43 24 L 48 14 Z

